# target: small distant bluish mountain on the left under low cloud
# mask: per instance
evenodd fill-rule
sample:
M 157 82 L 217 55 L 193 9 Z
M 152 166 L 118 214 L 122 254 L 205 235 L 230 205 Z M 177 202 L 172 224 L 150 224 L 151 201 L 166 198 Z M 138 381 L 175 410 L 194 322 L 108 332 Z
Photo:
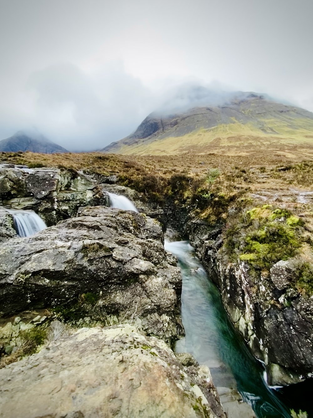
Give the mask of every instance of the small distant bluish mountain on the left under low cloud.
M 13 136 L 0 141 L 0 151 L 17 152 L 31 151 L 33 153 L 54 154 L 67 153 L 68 150 L 48 140 L 43 135 L 34 132 L 18 131 Z

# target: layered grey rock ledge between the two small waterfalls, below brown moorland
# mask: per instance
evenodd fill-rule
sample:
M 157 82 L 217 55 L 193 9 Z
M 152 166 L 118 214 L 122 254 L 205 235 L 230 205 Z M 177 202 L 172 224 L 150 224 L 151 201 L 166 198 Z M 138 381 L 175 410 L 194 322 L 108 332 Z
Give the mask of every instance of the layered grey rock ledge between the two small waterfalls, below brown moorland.
M 106 199 L 96 181 L 82 172 L 0 165 L 0 204 L 32 209 L 53 225 L 76 216 L 80 206 L 106 204 Z

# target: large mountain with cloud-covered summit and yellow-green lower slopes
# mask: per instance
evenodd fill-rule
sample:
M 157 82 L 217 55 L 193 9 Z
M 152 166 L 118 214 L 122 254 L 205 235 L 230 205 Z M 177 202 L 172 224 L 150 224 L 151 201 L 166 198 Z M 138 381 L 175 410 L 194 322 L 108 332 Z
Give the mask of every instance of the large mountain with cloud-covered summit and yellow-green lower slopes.
M 189 110 L 185 106 L 174 112 L 153 112 L 134 133 L 101 151 L 246 155 L 258 148 L 279 151 L 313 145 L 313 113 L 308 110 L 250 92 L 220 97 L 220 103 L 215 100 L 210 106 L 204 106 L 205 99 Z

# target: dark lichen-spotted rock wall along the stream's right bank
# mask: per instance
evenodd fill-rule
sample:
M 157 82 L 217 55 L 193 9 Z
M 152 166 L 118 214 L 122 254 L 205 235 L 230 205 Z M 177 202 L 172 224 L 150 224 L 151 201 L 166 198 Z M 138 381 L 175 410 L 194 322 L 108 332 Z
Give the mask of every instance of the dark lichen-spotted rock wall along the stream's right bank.
M 270 274 L 251 273 L 244 262 L 223 257 L 221 229 L 203 222 L 189 224 L 197 254 L 220 287 L 232 322 L 255 356 L 265 362 L 270 385 L 288 385 L 313 373 L 313 296 L 298 293 L 288 262 L 273 265 Z

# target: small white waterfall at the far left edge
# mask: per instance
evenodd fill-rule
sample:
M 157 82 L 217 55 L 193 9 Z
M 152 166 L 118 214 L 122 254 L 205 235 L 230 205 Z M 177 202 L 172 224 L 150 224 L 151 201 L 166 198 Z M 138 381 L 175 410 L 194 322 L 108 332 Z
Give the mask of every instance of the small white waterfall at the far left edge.
M 20 237 L 29 237 L 47 227 L 32 210 L 9 210 L 13 214 L 14 227 Z

